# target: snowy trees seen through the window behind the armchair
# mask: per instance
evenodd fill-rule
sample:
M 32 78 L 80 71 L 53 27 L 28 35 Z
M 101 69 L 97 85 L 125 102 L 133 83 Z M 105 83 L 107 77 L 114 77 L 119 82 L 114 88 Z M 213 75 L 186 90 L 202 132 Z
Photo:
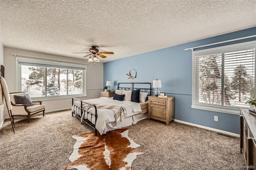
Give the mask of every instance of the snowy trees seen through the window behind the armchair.
M 30 97 L 80 95 L 83 70 L 21 65 L 22 87 Z

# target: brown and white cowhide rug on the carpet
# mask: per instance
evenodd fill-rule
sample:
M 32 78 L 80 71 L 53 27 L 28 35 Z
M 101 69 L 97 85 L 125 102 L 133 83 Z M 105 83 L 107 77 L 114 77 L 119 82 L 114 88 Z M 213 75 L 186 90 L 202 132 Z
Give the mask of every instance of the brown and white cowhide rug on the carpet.
M 130 170 L 143 152 L 135 149 L 140 145 L 128 137 L 128 131 L 121 128 L 98 136 L 94 132 L 72 136 L 77 141 L 66 170 Z

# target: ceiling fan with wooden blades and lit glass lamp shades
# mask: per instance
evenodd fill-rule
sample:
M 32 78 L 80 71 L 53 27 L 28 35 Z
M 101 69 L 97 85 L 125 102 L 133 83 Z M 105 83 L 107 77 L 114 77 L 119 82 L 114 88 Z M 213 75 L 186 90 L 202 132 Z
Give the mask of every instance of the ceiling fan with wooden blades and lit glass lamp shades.
M 106 58 L 106 56 L 102 54 L 114 54 L 113 52 L 99 52 L 96 46 L 92 46 L 92 48 L 89 49 L 89 52 L 76 52 L 76 53 L 89 53 L 88 55 L 84 56 L 84 57 L 87 57 L 90 55 L 88 62 L 100 62 L 100 60 L 98 59 L 98 56 L 102 58 Z

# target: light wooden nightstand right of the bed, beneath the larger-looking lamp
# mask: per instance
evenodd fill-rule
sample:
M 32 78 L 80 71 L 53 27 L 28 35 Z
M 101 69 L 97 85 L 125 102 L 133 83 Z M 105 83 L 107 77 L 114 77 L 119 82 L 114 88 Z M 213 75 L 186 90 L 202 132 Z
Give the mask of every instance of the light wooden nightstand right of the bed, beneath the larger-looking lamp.
M 150 119 L 163 121 L 169 125 L 174 119 L 174 97 L 148 96 L 148 120 Z

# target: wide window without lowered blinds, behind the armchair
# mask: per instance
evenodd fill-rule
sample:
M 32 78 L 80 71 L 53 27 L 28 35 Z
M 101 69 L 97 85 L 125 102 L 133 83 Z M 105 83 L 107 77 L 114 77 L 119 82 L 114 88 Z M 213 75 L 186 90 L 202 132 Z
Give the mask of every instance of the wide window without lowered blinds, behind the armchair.
M 84 65 L 17 58 L 18 89 L 34 98 L 85 95 Z

